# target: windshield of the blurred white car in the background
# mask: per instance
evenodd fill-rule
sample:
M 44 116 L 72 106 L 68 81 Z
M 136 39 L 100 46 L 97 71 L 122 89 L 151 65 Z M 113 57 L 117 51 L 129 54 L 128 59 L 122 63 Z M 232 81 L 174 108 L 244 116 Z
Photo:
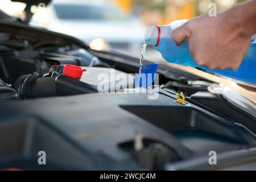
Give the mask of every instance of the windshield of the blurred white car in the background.
M 127 17 L 110 5 L 54 5 L 59 19 L 125 20 Z

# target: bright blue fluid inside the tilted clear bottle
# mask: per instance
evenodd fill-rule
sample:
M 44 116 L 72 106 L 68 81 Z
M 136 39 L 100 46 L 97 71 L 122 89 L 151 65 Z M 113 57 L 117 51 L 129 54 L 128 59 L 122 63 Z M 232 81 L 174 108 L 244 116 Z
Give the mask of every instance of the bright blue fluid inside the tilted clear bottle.
M 163 38 L 160 40 L 159 46 L 154 48 L 158 50 L 162 54 L 162 57 L 170 63 L 191 66 L 193 68 L 201 68 L 205 71 L 216 73 L 217 75 L 233 78 L 242 82 L 248 82 L 250 84 L 256 84 L 256 40 L 250 43 L 240 67 L 236 70 L 210 70 L 207 67 L 196 65 L 195 61 L 193 61 L 189 54 L 188 40 L 185 40 L 180 46 L 176 46 L 172 39 Z

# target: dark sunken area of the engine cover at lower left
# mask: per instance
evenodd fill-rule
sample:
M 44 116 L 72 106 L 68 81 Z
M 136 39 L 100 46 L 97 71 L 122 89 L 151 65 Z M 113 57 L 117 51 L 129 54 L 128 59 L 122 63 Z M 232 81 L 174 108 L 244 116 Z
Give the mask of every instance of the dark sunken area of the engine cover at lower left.
M 69 140 L 34 118 L 0 122 L 0 143 L 0 169 L 3 170 L 81 169 L 79 165 L 85 160 Z M 43 155 L 46 164 L 42 164 Z

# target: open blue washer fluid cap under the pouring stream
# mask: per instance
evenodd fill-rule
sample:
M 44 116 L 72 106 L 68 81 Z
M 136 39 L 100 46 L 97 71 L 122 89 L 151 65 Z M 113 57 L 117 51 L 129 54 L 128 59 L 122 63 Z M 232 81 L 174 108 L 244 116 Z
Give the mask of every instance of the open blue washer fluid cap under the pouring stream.
M 134 78 L 135 88 L 148 88 L 155 81 L 155 73 L 158 71 L 158 64 L 147 64 L 139 74 Z

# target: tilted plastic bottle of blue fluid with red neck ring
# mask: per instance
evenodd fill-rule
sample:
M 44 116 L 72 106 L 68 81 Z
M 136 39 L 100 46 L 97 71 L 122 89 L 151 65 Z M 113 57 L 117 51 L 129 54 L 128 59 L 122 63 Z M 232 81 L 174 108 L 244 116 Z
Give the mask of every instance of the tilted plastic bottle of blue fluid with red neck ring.
M 217 75 L 235 79 L 237 82 L 249 84 L 256 87 L 256 36 L 251 38 L 250 46 L 240 65 L 236 70 L 232 69 L 213 69 L 210 70 L 203 66 L 196 65 L 189 55 L 188 40 L 185 40 L 180 46 L 176 46 L 171 38 L 171 32 L 187 22 L 187 20 L 176 20 L 166 26 L 150 27 L 146 31 L 145 40 L 147 44 L 158 50 L 163 58 L 175 64 L 201 68 L 208 72 L 217 73 Z

